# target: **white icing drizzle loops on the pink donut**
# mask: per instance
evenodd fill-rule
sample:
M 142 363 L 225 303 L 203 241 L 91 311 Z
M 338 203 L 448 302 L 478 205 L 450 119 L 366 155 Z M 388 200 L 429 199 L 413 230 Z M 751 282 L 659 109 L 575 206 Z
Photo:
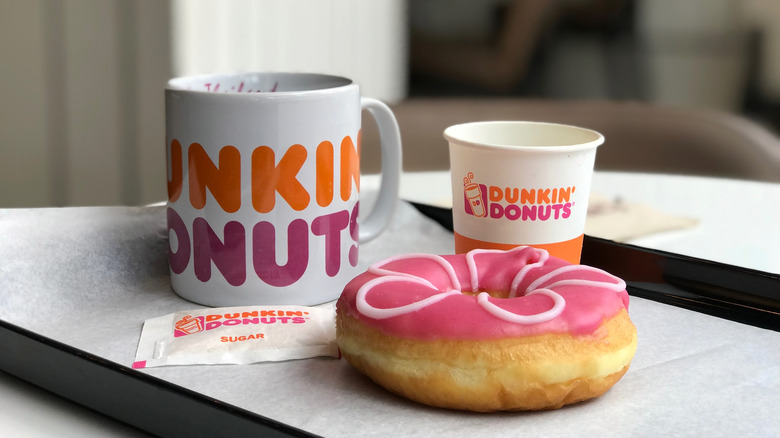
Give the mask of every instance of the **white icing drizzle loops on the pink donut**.
M 510 250 L 509 252 L 522 251 L 526 248 L 528 247 L 525 246 L 517 247 Z M 549 259 L 549 253 L 547 251 L 542 249 L 537 249 L 537 248 L 533 248 L 533 250 L 536 251 L 536 254 L 538 254 L 539 258 L 536 262 L 529 263 L 523 266 L 515 275 L 515 277 L 512 279 L 512 283 L 509 291 L 509 299 L 517 298 L 519 285 L 523 281 L 525 276 L 528 274 L 528 272 L 534 268 L 543 266 L 545 262 L 547 262 L 547 260 Z M 501 252 L 504 251 L 475 249 L 466 254 L 466 265 L 468 267 L 469 275 L 471 277 L 470 279 L 471 280 L 470 286 L 472 289 L 471 292 L 478 292 L 480 288 L 479 272 L 477 269 L 477 263 L 474 259 L 475 256 L 480 254 L 486 254 L 486 253 L 489 254 L 489 253 L 501 253 Z M 368 301 L 366 300 L 366 296 L 371 291 L 371 289 L 384 283 L 406 281 L 406 282 L 412 282 L 412 283 L 424 285 L 432 289 L 436 289 L 436 286 L 433 283 L 431 283 L 430 281 L 424 278 L 420 278 L 406 272 L 392 271 L 381 267 L 395 261 L 409 260 L 415 258 L 424 258 L 424 259 L 429 259 L 437 262 L 449 276 L 453 289 L 450 289 L 448 291 L 440 291 L 439 293 L 435 295 L 431 295 L 420 301 L 416 301 L 399 307 L 380 309 L 368 304 Z M 550 281 L 551 279 L 554 279 L 558 275 L 575 271 L 575 270 L 588 270 L 592 272 L 602 273 L 605 274 L 607 277 L 614 279 L 615 282 L 613 283 L 613 282 L 595 281 L 595 280 L 568 279 L 568 280 L 555 281 L 552 284 L 545 284 L 546 282 Z M 356 306 L 357 306 L 357 310 L 360 313 L 373 319 L 386 319 L 398 315 L 415 312 L 425 307 L 428 307 L 430 305 L 433 305 L 449 296 L 462 294 L 462 288 L 460 285 L 460 281 L 458 280 L 457 273 L 455 272 L 455 269 L 452 267 L 452 265 L 449 264 L 449 262 L 447 262 L 446 259 L 434 254 L 404 254 L 404 255 L 391 257 L 389 259 L 371 265 L 368 268 L 368 272 L 377 275 L 378 277 L 367 281 L 358 289 L 357 296 L 356 296 Z M 524 291 L 525 293 L 523 294 L 523 296 L 540 294 L 551 298 L 553 301 L 553 306 L 549 310 L 545 310 L 544 312 L 532 314 L 532 315 L 518 315 L 516 313 L 510 312 L 506 309 L 503 309 L 493 304 L 490 301 L 490 295 L 487 292 L 482 292 L 477 295 L 477 304 L 486 312 L 490 313 L 496 318 L 502 319 L 507 322 L 512 322 L 516 324 L 539 324 L 556 318 L 561 314 L 561 312 L 563 312 L 563 309 L 566 307 L 566 300 L 564 300 L 564 298 L 559 294 L 557 294 L 555 291 L 551 290 L 552 288 L 559 287 L 559 286 L 580 286 L 580 287 L 595 286 L 595 287 L 604 287 L 607 288 L 608 290 L 613 290 L 615 292 L 620 292 L 625 289 L 626 283 L 622 279 L 617 278 L 598 268 L 593 268 L 591 266 L 584 266 L 584 265 L 567 265 L 555 269 L 551 272 L 548 272 L 547 274 L 537 278 L 530 285 L 528 285 L 528 287 Z

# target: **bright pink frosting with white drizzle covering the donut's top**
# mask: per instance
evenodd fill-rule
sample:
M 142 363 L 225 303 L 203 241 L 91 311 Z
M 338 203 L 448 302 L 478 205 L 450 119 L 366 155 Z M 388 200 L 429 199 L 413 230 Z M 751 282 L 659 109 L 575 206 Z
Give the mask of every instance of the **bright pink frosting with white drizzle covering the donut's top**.
M 623 280 L 546 251 L 406 254 L 372 265 L 344 288 L 339 311 L 415 339 L 498 339 L 593 333 L 628 309 Z M 493 298 L 485 291 L 508 291 Z M 466 292 L 465 294 L 463 292 Z

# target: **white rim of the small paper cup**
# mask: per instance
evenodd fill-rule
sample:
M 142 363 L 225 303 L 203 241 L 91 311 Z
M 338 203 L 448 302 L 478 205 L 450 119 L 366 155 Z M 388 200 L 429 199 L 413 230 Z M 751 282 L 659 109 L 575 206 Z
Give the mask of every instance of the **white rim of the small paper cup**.
M 479 127 L 479 126 L 509 126 L 510 128 L 528 128 L 533 126 L 538 127 L 557 127 L 565 129 L 567 131 L 578 131 L 581 134 L 591 136 L 589 141 L 582 142 L 569 142 L 568 144 L 509 144 L 506 142 L 495 141 L 480 141 L 475 139 L 473 134 L 466 134 L 464 130 Z M 469 146 L 479 149 L 487 150 L 506 150 L 517 151 L 522 150 L 525 152 L 538 152 L 538 153 L 559 153 L 559 152 L 573 152 L 582 151 L 588 149 L 594 149 L 604 143 L 604 135 L 593 129 L 583 128 L 581 126 L 569 125 L 563 123 L 554 122 L 537 122 L 537 121 L 520 121 L 520 120 L 491 120 L 491 121 L 479 121 L 468 122 L 452 125 L 444 130 L 444 138 L 446 138 L 450 144 L 458 144 L 462 146 Z M 562 142 L 559 142 L 562 143 Z

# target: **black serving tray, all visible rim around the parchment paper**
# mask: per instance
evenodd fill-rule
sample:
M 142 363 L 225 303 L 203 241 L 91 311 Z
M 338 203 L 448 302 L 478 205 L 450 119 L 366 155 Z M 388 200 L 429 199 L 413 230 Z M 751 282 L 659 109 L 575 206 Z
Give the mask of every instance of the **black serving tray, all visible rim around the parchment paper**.
M 451 210 L 413 205 L 452 230 Z M 776 274 L 590 236 L 582 261 L 624 278 L 632 295 L 780 331 Z M 3 320 L 0 345 L 0 370 L 155 435 L 314 436 Z

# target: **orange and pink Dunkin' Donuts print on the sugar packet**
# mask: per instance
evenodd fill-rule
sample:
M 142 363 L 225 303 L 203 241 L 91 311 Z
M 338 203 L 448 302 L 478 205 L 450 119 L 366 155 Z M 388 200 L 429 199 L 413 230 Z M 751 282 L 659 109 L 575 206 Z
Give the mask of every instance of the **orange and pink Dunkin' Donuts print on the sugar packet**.
M 207 314 L 195 317 L 185 315 L 174 323 L 173 336 L 179 338 L 220 327 L 237 325 L 305 324 L 310 319 L 309 312 L 304 310 L 253 310 L 249 312 Z M 258 334 L 257 337 L 263 338 L 264 336 L 261 335 L 262 333 Z

